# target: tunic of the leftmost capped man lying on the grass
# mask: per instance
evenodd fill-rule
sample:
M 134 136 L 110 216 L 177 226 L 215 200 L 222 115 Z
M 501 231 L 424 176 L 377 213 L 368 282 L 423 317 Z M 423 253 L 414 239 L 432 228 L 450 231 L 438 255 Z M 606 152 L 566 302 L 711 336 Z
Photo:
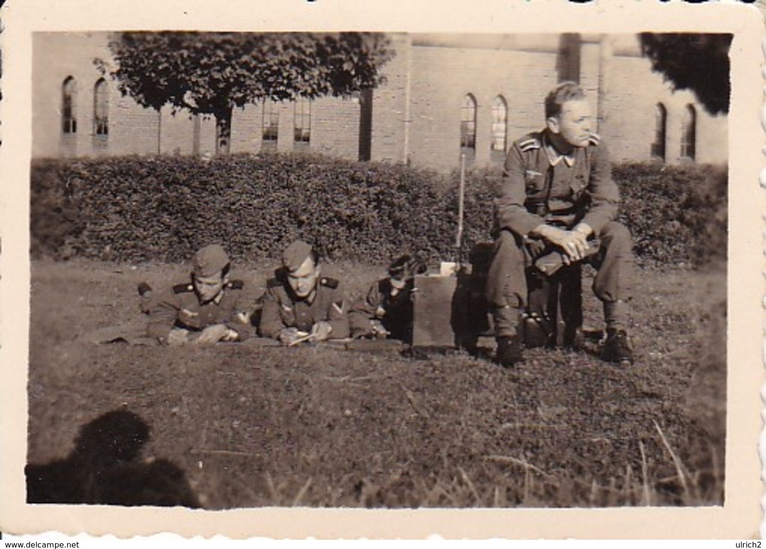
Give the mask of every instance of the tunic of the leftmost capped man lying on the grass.
M 146 332 L 149 337 L 167 343 L 173 328 L 199 332 L 211 325 L 224 324 L 244 341 L 253 335 L 253 327 L 244 319 L 251 305 L 241 280 L 227 283 L 218 297 L 207 303 L 199 301 L 193 283 L 178 284 L 152 299 Z

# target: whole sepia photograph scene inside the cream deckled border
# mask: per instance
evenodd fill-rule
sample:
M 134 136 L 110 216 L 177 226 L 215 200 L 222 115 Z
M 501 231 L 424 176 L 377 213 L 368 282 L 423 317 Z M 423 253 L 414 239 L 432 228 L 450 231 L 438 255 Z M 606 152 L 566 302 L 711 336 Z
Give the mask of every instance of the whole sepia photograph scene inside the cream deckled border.
M 353 29 L 31 33 L 25 502 L 724 508 L 736 32 Z

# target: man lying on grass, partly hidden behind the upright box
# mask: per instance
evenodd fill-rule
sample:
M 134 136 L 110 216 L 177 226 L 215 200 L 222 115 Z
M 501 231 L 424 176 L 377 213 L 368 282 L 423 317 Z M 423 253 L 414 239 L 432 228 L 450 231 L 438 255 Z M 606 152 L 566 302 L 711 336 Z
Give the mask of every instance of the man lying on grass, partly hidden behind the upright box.
M 393 338 L 412 341 L 414 276 L 426 271 L 420 257 L 405 254 L 388 266 L 388 276 L 370 286 L 349 312 L 353 338 Z

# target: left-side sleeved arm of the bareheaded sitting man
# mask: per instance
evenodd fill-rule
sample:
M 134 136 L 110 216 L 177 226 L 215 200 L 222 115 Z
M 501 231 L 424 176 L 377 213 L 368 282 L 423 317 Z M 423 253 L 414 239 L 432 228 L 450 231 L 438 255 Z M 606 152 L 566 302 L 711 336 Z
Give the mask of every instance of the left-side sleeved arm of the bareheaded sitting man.
M 542 217 L 526 210 L 525 200 L 525 162 L 518 143 L 514 143 L 503 165 L 502 181 L 495 198 L 495 217 L 500 229 L 526 236 L 535 227 L 545 224 Z

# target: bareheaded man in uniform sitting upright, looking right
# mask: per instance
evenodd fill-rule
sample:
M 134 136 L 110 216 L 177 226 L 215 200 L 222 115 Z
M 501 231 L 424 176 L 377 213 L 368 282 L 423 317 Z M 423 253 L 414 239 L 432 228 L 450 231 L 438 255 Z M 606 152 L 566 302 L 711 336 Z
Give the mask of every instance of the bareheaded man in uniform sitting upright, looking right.
M 509 149 L 495 202 L 497 238 L 487 301 L 493 310 L 500 364 L 522 361 L 520 320 L 527 299 L 525 265 L 551 250 L 565 263 L 588 257 L 597 269 L 594 293 L 604 304 L 604 359 L 633 361 L 627 340 L 627 302 L 633 255 L 630 234 L 617 223 L 620 194 L 607 149 L 591 132 L 584 92 L 561 83 L 545 99 L 546 127 Z

